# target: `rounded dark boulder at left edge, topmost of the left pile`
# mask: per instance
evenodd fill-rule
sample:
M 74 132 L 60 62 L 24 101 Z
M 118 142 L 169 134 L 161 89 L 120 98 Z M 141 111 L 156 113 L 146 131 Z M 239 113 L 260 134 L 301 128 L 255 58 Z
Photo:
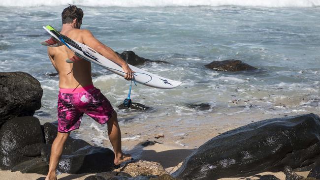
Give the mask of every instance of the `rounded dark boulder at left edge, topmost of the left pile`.
M 42 88 L 24 72 L 0 72 L 0 125 L 14 117 L 33 116 L 41 107 Z

